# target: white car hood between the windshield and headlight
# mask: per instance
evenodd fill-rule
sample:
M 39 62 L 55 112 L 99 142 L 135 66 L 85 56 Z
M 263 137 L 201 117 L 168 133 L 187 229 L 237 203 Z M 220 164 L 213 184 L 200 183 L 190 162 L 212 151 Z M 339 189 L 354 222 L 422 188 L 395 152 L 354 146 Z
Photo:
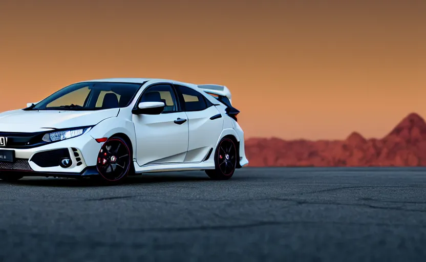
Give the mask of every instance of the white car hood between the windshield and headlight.
M 116 117 L 118 112 L 118 108 L 99 111 L 14 110 L 0 114 L 0 132 L 34 133 L 96 125 L 104 119 Z

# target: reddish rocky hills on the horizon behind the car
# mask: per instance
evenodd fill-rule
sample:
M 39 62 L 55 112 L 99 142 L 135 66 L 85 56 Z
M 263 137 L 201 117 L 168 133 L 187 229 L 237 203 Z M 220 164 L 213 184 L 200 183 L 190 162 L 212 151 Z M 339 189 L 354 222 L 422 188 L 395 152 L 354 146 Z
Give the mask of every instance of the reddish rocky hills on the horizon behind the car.
M 426 122 L 413 113 L 382 139 L 354 132 L 345 140 L 252 138 L 249 166 L 426 166 Z

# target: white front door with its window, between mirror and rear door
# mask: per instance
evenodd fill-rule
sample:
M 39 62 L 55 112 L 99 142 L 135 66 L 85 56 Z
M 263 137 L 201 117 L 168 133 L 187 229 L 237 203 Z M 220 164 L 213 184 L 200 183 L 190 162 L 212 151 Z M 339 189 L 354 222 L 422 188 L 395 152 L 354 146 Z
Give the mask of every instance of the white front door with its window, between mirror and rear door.
M 136 160 L 139 166 L 184 162 L 188 149 L 188 121 L 178 111 L 171 84 L 148 86 L 139 102 L 164 102 L 160 115 L 133 115 L 136 131 Z

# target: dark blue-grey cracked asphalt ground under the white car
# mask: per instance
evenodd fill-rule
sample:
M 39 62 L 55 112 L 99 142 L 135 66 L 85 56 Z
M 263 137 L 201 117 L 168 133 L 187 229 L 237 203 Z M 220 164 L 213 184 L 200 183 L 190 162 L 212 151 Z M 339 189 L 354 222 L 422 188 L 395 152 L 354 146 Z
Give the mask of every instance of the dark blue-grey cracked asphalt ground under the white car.
M 426 261 L 426 168 L 0 181 L 0 261 Z

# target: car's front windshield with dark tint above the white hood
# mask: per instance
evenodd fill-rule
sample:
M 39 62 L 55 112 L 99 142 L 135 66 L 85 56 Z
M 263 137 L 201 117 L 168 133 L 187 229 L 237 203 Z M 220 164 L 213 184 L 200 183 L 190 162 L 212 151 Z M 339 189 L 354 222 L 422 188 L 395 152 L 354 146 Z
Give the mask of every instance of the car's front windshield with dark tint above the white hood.
M 129 106 L 142 84 L 83 82 L 67 86 L 27 110 L 102 110 Z

